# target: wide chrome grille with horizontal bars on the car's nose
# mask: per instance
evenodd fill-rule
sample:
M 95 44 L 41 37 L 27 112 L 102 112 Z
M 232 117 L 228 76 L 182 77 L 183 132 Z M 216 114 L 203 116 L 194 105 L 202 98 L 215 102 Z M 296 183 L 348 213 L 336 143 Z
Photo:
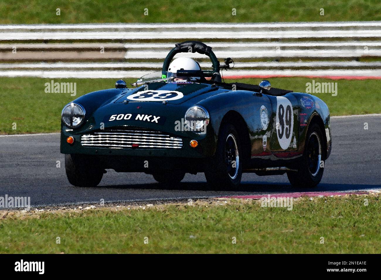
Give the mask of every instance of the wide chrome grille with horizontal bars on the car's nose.
M 180 149 L 182 139 L 172 137 L 160 131 L 146 130 L 109 130 L 83 134 L 82 146 L 108 147 L 112 149 L 146 148 L 146 149 Z

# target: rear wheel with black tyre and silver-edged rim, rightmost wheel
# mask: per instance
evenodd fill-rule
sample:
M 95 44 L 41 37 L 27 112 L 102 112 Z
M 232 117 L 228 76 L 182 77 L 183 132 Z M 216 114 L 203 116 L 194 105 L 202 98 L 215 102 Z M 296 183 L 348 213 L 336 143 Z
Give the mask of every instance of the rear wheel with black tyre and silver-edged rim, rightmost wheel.
M 323 177 L 325 161 L 325 144 L 319 125 L 309 127 L 304 144 L 303 157 L 297 172 L 287 173 L 288 180 L 294 187 L 315 187 Z

